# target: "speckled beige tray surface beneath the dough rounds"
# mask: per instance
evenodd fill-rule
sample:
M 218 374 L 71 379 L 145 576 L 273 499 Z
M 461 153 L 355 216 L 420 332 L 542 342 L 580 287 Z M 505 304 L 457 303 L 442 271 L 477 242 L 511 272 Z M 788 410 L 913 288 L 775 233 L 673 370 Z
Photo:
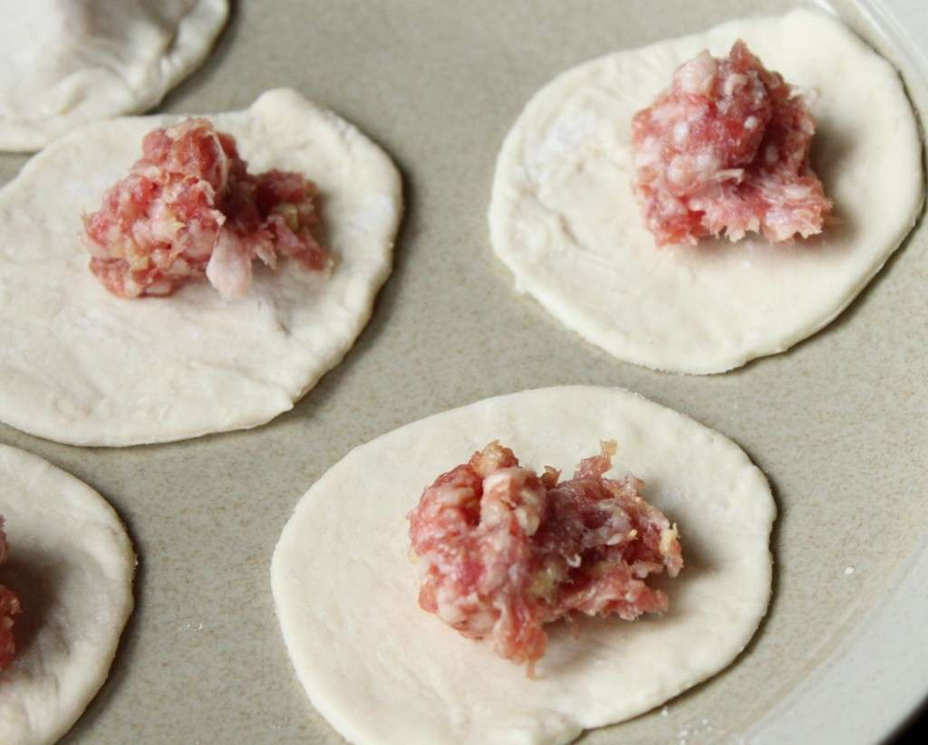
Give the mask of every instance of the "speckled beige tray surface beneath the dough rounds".
M 918 0 L 898 2 L 919 10 Z M 110 681 L 67 742 L 340 742 L 303 696 L 271 600 L 271 552 L 297 499 L 350 448 L 400 424 L 567 383 L 624 385 L 731 436 L 767 472 L 780 505 L 775 595 L 754 643 L 664 712 L 585 741 L 837 743 L 890 731 L 928 681 L 917 636 L 928 617 L 918 584 L 928 576 L 925 229 L 823 333 L 716 377 L 651 372 L 587 345 L 514 294 L 487 238 L 496 152 L 539 86 L 619 47 L 786 6 L 237 4 L 213 57 L 161 108 L 245 107 L 292 85 L 354 121 L 406 178 L 396 269 L 354 350 L 264 427 L 82 449 L 0 426 L 0 442 L 109 498 L 141 559 L 138 607 Z M 848 18 L 906 69 L 866 19 Z M 928 110 L 921 83 L 907 77 Z M 0 158 L 0 179 L 23 162 Z M 907 567 L 922 572 L 908 580 L 919 592 L 899 590 Z M 889 611 L 874 610 L 886 603 Z

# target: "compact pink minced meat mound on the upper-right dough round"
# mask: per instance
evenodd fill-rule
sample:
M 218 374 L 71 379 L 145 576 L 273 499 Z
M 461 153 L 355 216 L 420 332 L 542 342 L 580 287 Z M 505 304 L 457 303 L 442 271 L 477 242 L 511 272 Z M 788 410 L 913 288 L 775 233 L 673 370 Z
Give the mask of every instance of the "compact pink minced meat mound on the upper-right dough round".
M 632 130 L 635 194 L 658 246 L 751 232 L 782 243 L 829 221 L 806 100 L 742 41 L 727 59 L 702 51 L 681 65 Z

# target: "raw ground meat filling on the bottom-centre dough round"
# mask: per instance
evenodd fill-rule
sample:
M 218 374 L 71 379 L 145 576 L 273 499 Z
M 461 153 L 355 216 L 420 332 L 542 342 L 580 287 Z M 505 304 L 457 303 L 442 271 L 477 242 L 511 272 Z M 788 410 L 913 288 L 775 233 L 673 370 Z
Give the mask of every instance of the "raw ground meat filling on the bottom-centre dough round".
M 683 567 L 677 527 L 641 499 L 634 476 L 603 478 L 615 443 L 559 481 L 492 442 L 439 476 L 409 512 L 422 569 L 419 605 L 515 663 L 545 654 L 543 626 L 576 614 L 634 621 L 663 612 L 647 578 Z

